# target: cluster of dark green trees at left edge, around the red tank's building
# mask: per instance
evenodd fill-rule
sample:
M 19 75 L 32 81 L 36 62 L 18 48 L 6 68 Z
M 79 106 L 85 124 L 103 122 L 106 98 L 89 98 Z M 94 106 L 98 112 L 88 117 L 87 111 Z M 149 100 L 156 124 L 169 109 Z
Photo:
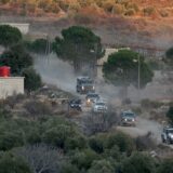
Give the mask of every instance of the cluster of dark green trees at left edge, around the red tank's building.
M 31 68 L 34 58 L 23 42 L 22 32 L 15 27 L 1 25 L 0 35 L 0 45 L 5 48 L 0 55 L 0 66 L 10 66 L 12 76 L 24 76 L 27 91 L 39 89 L 41 77 Z

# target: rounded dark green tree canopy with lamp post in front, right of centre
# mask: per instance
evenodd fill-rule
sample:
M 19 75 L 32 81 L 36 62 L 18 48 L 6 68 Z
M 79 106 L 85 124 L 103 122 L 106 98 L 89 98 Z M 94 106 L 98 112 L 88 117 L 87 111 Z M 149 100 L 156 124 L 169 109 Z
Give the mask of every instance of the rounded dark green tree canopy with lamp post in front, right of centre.
M 139 59 L 139 61 L 138 61 Z M 138 63 L 141 86 L 145 86 L 152 80 L 154 72 L 145 63 L 144 57 L 131 50 L 120 50 L 109 55 L 104 64 L 104 78 L 115 85 L 137 86 L 138 83 Z

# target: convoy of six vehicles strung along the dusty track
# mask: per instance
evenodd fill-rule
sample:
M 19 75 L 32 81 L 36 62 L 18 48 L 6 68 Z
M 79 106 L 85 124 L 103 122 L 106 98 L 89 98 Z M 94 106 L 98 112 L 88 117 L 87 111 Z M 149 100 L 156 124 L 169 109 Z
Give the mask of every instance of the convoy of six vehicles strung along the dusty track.
M 106 102 L 101 99 L 101 96 L 95 93 L 94 81 L 89 77 L 78 77 L 77 93 L 86 94 L 85 105 L 91 106 L 91 110 L 94 114 L 105 114 L 107 112 Z M 69 102 L 69 107 L 79 111 L 82 111 L 82 102 L 79 98 L 71 99 Z M 131 111 L 121 111 L 120 114 L 120 124 L 121 125 L 136 125 L 136 115 Z M 163 143 L 172 144 L 173 143 L 173 128 L 164 128 L 161 133 L 161 139 Z

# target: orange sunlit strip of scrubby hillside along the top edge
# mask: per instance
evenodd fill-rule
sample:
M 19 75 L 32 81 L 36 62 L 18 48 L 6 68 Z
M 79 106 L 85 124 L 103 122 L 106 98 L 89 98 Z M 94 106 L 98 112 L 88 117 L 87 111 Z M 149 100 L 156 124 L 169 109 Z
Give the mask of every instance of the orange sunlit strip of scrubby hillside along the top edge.
M 62 13 L 76 15 L 82 11 L 98 15 L 124 16 L 158 16 L 173 15 L 172 0 L 2 0 L 1 13 L 17 13 L 21 15 L 59 15 Z M 10 10 L 10 12 L 9 12 Z

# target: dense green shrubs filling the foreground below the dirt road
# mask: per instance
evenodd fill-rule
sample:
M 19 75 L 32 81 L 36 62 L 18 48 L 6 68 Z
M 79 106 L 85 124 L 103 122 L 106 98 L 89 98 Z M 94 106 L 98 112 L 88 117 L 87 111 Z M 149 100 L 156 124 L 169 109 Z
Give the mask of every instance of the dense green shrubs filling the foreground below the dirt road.
M 24 97 L 16 101 L 19 99 Z M 51 109 L 37 102 L 27 103 L 26 108 L 30 116 L 16 112 L 13 116 L 0 106 L 0 170 L 3 172 L 145 173 L 147 170 L 163 173 L 172 170 L 171 159 L 150 155 L 157 146 L 149 135 L 132 138 L 118 130 L 86 135 L 65 115 L 51 115 Z

